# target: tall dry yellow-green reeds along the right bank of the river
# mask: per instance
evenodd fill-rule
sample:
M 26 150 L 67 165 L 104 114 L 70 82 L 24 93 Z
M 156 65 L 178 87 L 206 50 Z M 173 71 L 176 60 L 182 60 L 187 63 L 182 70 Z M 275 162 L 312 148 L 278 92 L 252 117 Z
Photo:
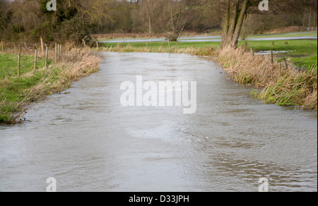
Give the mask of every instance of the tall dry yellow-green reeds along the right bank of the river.
M 269 56 L 252 56 L 245 49 L 224 49 L 218 60 L 237 83 L 253 85 L 253 95 L 280 106 L 297 105 L 317 110 L 317 65 L 298 71 L 292 64 L 271 63 Z

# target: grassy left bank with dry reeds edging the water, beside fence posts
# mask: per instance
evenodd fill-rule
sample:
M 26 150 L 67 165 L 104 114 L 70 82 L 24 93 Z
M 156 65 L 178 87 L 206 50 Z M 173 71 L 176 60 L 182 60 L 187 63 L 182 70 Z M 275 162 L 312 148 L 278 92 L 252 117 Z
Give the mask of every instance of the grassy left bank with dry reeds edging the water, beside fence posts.
M 0 53 L 0 68 L 9 68 L 16 58 L 16 54 Z M 33 56 L 25 54 L 21 59 L 24 65 L 20 77 L 16 69 L 4 70 L 0 76 L 0 123 L 19 123 L 30 104 L 66 90 L 74 80 L 98 71 L 101 61 L 88 48 L 67 49 L 63 61 L 47 67 L 40 62 L 35 71 Z

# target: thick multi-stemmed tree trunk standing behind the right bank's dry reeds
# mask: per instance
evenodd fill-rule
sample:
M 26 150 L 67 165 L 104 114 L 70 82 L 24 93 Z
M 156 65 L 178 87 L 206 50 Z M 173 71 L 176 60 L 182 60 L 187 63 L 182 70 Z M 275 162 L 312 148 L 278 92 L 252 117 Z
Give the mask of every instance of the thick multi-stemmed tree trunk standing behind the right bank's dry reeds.
M 222 48 L 236 49 L 240 37 L 247 6 L 250 0 L 225 0 L 225 15 L 223 17 Z M 242 6 L 240 4 L 242 2 Z

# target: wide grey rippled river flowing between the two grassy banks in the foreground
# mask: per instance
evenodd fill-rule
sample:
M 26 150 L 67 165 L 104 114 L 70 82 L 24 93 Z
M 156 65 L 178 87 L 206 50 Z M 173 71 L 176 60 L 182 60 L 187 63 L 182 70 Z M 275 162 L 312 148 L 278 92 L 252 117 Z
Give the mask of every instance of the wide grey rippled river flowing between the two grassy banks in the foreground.
M 103 53 L 98 73 L 0 126 L 0 191 L 317 191 L 317 114 L 268 105 L 187 54 Z M 124 81 L 196 81 L 195 114 L 123 107 Z

